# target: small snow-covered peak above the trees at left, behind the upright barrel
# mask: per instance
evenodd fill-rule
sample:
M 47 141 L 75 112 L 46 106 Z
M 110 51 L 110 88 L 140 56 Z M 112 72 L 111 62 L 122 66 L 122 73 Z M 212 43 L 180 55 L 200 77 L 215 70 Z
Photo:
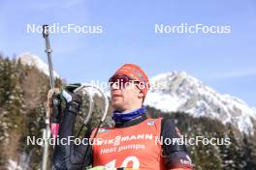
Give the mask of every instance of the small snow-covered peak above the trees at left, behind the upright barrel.
M 34 66 L 39 71 L 42 71 L 48 75 L 48 65 L 43 62 L 38 56 L 31 54 L 29 52 L 20 54 L 17 59 L 20 59 L 21 64 Z M 54 67 L 54 66 L 53 66 Z M 59 77 L 56 71 L 53 71 L 54 77 Z

